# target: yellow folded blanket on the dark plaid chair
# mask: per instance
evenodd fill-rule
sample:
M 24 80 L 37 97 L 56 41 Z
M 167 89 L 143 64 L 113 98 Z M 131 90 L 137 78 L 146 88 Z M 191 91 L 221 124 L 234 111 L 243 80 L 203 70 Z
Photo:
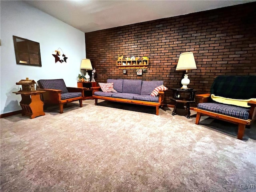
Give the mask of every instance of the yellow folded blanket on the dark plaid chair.
M 256 100 L 256 98 L 251 98 L 251 99 L 231 99 L 231 98 L 225 98 L 221 96 L 215 96 L 214 94 L 211 94 L 212 100 L 223 103 L 223 104 L 228 104 L 228 105 L 236 105 L 240 107 L 250 107 L 247 103 L 251 100 Z

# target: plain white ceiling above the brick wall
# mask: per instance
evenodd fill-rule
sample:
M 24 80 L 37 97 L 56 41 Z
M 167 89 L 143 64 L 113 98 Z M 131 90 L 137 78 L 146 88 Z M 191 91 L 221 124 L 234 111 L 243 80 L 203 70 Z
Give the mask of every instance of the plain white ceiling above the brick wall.
M 81 30 L 92 32 L 255 0 L 25 0 Z

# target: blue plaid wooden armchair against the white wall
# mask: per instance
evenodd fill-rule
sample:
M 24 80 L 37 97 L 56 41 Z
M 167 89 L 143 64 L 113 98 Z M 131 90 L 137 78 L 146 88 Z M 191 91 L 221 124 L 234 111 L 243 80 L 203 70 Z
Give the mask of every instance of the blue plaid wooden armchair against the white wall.
M 44 105 L 58 104 L 60 113 L 63 113 L 63 105 L 68 102 L 79 100 L 80 107 L 83 106 L 84 88 L 66 87 L 63 79 L 38 80 L 37 90 L 46 91 L 42 94 Z

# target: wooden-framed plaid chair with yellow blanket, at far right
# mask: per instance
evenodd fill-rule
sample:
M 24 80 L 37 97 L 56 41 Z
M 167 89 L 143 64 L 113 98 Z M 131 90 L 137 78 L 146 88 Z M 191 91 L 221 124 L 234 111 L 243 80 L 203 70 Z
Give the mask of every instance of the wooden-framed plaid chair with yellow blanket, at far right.
M 196 124 L 201 115 L 238 124 L 237 138 L 242 140 L 246 125 L 250 125 L 256 107 L 256 76 L 217 76 L 210 94 L 199 98 Z

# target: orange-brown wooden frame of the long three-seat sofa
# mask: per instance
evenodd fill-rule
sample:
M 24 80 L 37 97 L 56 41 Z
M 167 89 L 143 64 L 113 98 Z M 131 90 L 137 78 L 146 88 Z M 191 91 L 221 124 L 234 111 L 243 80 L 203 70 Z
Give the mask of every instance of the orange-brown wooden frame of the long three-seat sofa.
M 116 101 L 122 103 L 131 103 L 138 105 L 146 105 L 146 106 L 154 106 L 156 107 L 156 115 L 159 114 L 159 108 L 162 107 L 164 101 L 164 91 L 158 92 L 159 100 L 158 102 L 149 102 L 149 101 L 140 101 L 140 100 L 131 100 L 131 99 L 122 99 L 122 98 L 112 98 L 112 97 L 104 97 L 104 96 L 96 96 L 94 95 L 95 91 L 100 91 L 100 87 L 92 87 L 92 96 L 95 100 L 95 105 L 98 104 L 98 99 L 107 100 L 107 101 Z

